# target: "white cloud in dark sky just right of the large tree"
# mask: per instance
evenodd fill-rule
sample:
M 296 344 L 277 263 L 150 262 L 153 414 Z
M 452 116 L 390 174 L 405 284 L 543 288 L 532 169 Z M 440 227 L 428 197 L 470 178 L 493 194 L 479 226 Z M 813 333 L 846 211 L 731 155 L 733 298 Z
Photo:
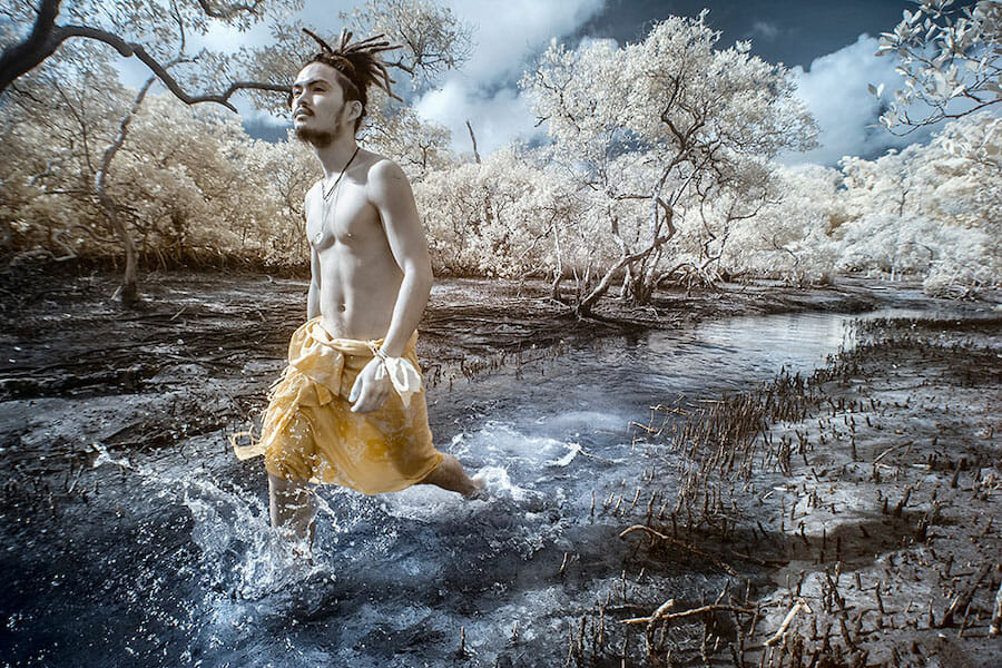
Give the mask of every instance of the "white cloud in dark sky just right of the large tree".
M 788 154 L 783 157 L 784 163 L 831 166 L 843 156 L 874 157 L 888 148 L 903 148 L 929 138 L 929 128 L 896 137 L 877 126 L 881 102 L 867 85 L 883 84 L 886 98 L 902 86 L 902 78 L 894 71 L 897 61 L 877 58 L 876 49 L 876 38 L 861 35 L 854 43 L 814 59 L 806 71 L 799 66 L 793 68 L 797 95 L 817 120 L 821 146 L 804 154 Z

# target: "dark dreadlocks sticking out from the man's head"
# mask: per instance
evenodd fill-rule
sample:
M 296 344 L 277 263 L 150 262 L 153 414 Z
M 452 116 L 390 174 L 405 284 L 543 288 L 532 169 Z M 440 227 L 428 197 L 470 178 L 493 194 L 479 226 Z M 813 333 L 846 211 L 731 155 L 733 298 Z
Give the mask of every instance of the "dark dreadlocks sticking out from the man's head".
M 385 41 L 383 39 L 386 37 L 385 35 L 376 35 L 351 43 L 352 32 L 345 28 L 341 31 L 341 46 L 334 49 L 306 28 L 303 28 L 303 32 L 312 37 L 321 47 L 321 51 L 315 53 L 306 65 L 323 62 L 334 68 L 334 71 L 337 72 L 337 82 L 344 90 L 344 99 L 362 102 L 362 114 L 355 119 L 355 131 L 358 131 L 362 119 L 365 118 L 365 111 L 369 108 L 369 87 L 373 84 L 385 90 L 386 95 L 393 99 L 403 101 L 390 90 L 390 85 L 396 81 L 390 78 L 386 65 L 379 56 L 383 51 L 399 49 L 401 45 L 391 45 Z M 289 94 L 288 101 L 292 105 L 292 94 Z

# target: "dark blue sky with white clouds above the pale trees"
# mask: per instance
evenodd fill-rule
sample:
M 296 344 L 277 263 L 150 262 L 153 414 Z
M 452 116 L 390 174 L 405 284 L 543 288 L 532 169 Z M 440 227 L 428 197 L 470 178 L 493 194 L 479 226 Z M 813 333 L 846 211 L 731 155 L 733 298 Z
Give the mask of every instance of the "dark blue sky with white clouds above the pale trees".
M 721 32 L 720 48 L 750 40 L 752 52 L 792 69 L 797 95 L 819 127 L 821 146 L 787 155 L 787 164 L 835 165 L 846 155 L 873 158 L 888 148 L 924 141 L 929 130 L 894 137 L 875 127 L 878 101 L 867 84 L 898 87 L 891 58 L 877 58 L 877 36 L 901 20 L 910 0 L 439 0 L 472 31 L 473 49 L 461 69 L 412 100 L 428 120 L 453 134 L 453 148 L 470 151 L 470 120 L 481 154 L 511 141 L 544 140 L 518 81 L 523 70 L 556 39 L 569 48 L 582 39 L 639 41 L 651 24 L 670 14 L 695 17 L 705 7 L 707 23 Z M 307 0 L 303 19 L 322 33 L 340 32 L 338 11 L 351 0 Z M 243 43 L 264 33 L 218 35 Z M 145 72 L 144 72 L 145 73 Z M 252 134 L 266 132 L 275 119 L 246 114 Z M 281 136 L 287 121 L 281 120 Z

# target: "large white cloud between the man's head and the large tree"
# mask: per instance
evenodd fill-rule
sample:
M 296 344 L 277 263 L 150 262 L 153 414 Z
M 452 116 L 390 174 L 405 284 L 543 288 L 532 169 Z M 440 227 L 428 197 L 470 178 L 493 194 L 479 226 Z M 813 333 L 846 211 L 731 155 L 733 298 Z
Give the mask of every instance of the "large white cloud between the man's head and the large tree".
M 436 90 L 416 100 L 418 112 L 452 130 L 452 147 L 470 151 L 469 119 L 482 155 L 514 139 L 542 136 L 519 95 L 518 80 L 553 37 L 573 33 L 605 0 L 450 0 L 472 28 L 473 52 L 462 70 L 449 72 Z

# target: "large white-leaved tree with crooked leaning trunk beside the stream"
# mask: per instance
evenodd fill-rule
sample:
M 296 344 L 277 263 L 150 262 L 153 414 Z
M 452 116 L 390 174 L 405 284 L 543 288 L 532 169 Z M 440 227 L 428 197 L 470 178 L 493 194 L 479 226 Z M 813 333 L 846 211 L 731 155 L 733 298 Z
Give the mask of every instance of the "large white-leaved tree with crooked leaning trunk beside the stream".
M 740 214 L 707 207 L 709 200 L 744 196 L 754 208 L 766 189 L 767 159 L 813 146 L 813 124 L 793 98 L 788 70 L 740 45 L 717 49 L 719 33 L 705 17 L 670 17 L 623 48 L 610 41 L 582 42 L 576 50 L 553 45 L 522 79 L 553 139 L 554 163 L 581 189 L 605 198 L 595 210 L 605 215 L 602 234 L 619 249 L 586 308 L 620 269 L 625 288 L 639 301 L 682 265 L 707 269 L 703 259 L 718 253 L 713 246 L 726 230 L 700 215 L 706 235 L 675 238 L 688 213 L 726 209 L 726 227 Z

